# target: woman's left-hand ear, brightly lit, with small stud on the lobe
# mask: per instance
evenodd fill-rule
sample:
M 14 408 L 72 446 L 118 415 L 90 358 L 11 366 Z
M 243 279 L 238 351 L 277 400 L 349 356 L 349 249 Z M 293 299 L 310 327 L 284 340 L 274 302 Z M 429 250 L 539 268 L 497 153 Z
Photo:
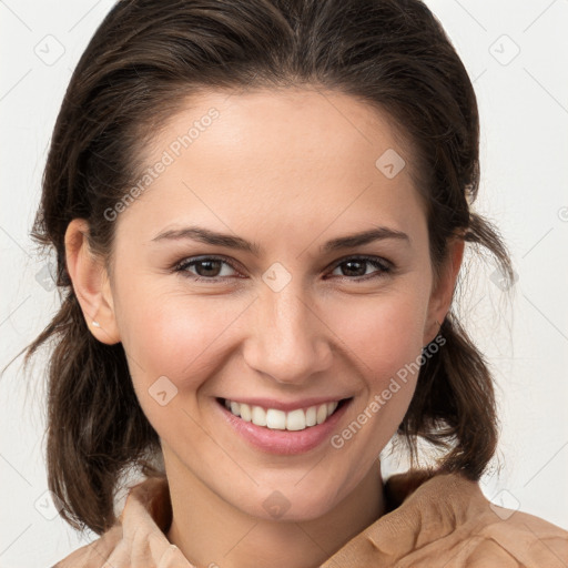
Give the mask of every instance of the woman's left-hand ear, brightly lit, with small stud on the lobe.
M 73 219 L 65 231 L 67 270 L 87 325 L 97 339 L 108 345 L 120 342 L 106 268 L 89 248 L 89 223 Z M 94 323 L 93 323 L 94 322 Z

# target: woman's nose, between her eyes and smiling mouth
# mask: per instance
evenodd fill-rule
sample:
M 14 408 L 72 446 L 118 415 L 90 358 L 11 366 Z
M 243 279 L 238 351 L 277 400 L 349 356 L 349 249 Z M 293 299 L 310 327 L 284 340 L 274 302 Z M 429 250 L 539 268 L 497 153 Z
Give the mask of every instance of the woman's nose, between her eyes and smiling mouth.
M 261 291 L 244 347 L 247 365 L 282 384 L 302 385 L 332 365 L 333 334 L 294 278 L 284 290 Z

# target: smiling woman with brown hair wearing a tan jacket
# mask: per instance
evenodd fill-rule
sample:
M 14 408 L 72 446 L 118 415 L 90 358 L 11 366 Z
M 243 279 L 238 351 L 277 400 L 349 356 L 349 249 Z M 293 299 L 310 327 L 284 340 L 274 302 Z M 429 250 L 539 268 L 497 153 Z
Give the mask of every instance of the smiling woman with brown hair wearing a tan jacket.
M 71 79 L 34 237 L 58 252 L 48 470 L 68 566 L 562 566 L 496 507 L 491 376 L 452 303 L 467 73 L 419 1 L 121 1 Z M 382 479 L 398 435 L 413 467 Z M 416 467 L 417 440 L 438 449 Z M 145 479 L 119 506 L 116 491 Z

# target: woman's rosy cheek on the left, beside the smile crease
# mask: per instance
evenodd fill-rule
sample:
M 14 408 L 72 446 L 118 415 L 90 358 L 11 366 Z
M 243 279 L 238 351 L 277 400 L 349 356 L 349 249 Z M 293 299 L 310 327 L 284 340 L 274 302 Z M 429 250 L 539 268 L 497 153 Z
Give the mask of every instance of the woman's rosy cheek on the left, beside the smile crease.
M 150 294 L 149 294 L 150 297 Z M 207 447 L 197 393 L 210 388 L 225 364 L 223 333 L 246 307 L 226 298 L 156 294 L 142 307 L 123 305 L 123 345 L 140 406 L 159 436 L 172 447 L 192 448 L 196 459 Z M 122 329 L 121 329 L 122 331 Z

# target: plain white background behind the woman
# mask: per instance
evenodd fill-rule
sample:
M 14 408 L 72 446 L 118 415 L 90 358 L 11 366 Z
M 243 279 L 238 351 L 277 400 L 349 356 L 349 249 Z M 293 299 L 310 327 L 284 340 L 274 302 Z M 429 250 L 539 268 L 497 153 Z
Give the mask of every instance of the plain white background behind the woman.
M 477 210 L 500 227 L 518 273 L 513 308 L 491 265 L 474 266 L 464 298 L 466 324 L 496 375 L 503 424 L 500 469 L 481 486 L 495 503 L 568 529 L 568 2 L 427 4 L 474 80 L 483 144 Z M 2 366 L 58 306 L 55 291 L 37 281 L 45 260 L 29 231 L 71 70 L 111 6 L 0 1 Z M 58 50 L 57 61 L 45 61 Z M 43 359 L 29 377 L 18 372 L 20 361 L 0 382 L 1 568 L 50 566 L 89 540 L 45 518 L 53 510 L 43 496 Z

